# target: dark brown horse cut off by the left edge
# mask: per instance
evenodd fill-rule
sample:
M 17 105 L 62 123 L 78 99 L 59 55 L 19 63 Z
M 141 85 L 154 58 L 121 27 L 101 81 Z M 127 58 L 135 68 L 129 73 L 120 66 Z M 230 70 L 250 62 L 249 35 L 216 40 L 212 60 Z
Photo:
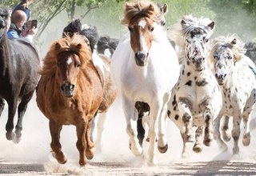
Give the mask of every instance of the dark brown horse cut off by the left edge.
M 19 142 L 22 136 L 22 119 L 34 94 L 40 75 L 40 60 L 34 46 L 26 39 L 7 38 L 10 23 L 9 11 L 0 8 L 0 114 L 8 103 L 6 138 Z M 20 100 L 18 104 L 18 100 Z M 18 122 L 14 129 L 14 115 L 18 106 Z

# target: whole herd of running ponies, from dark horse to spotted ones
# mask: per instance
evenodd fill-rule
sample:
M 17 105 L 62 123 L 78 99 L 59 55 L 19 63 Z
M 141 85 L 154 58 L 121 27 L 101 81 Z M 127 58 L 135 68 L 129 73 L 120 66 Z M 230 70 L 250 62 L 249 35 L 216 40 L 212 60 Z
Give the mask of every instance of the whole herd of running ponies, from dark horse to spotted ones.
M 237 34 L 211 38 L 215 22 L 191 15 L 166 30 L 166 13 L 166 4 L 126 2 L 121 22 L 129 31 L 121 39 L 99 36 L 96 27 L 82 26 L 76 19 L 52 42 L 41 64 L 33 44 L 7 38 L 10 14 L 1 8 L 0 114 L 7 102 L 6 138 L 20 142 L 22 118 L 35 92 L 39 110 L 49 119 L 54 158 L 66 163 L 60 134 L 63 125 L 73 125 L 78 163 L 85 166 L 95 149 L 102 150 L 108 110 L 120 94 L 127 147 L 138 156 L 143 142 L 149 142 L 149 166 L 157 162 L 157 149 L 168 150 L 167 118 L 180 130 L 182 157 L 189 157 L 191 142 L 196 153 L 214 141 L 226 151 L 231 137 L 233 154 L 239 154 L 241 122 L 242 144 L 250 145 L 256 44 L 245 44 Z

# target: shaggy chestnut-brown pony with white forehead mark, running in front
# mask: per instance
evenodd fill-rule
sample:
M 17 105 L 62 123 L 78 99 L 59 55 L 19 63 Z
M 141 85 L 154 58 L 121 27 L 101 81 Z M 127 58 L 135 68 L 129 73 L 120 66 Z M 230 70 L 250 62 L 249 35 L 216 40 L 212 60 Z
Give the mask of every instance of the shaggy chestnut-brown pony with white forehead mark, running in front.
M 53 155 L 59 163 L 66 162 L 59 142 L 60 132 L 62 125 L 74 125 L 78 136 L 79 164 L 84 166 L 86 158 L 94 157 L 90 121 L 102 102 L 103 91 L 87 38 L 74 34 L 72 38 L 54 42 L 46 54 L 41 74 L 37 103 L 50 120 Z

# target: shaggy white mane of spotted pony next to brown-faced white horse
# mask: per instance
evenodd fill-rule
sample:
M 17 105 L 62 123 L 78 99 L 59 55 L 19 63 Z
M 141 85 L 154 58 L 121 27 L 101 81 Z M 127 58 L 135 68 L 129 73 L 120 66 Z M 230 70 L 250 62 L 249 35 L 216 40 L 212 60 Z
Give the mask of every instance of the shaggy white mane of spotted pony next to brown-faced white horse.
M 182 20 L 186 22 L 186 26 L 182 26 Z M 178 22 L 176 22 L 173 26 L 170 26 L 168 29 L 167 35 L 168 38 L 174 40 L 174 42 L 179 47 L 178 50 L 178 60 L 181 63 L 181 60 L 184 58 L 184 50 L 186 43 L 186 35 L 190 33 L 190 31 L 195 28 L 201 28 L 202 30 L 207 30 L 210 34 L 212 34 L 213 30 L 209 30 L 207 27 L 210 22 L 213 22 L 209 18 L 195 18 L 191 15 L 186 15 Z

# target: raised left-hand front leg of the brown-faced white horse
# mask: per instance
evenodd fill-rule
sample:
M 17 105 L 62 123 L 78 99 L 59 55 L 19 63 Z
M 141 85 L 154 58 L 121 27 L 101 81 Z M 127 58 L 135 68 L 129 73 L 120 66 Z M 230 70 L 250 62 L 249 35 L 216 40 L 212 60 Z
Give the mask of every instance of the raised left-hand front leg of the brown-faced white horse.
M 130 137 L 130 150 L 134 155 L 138 156 L 142 154 L 142 147 L 138 142 L 137 120 L 138 110 L 135 109 L 134 102 L 131 102 L 128 98 L 122 98 L 123 110 L 126 116 L 126 133 Z

